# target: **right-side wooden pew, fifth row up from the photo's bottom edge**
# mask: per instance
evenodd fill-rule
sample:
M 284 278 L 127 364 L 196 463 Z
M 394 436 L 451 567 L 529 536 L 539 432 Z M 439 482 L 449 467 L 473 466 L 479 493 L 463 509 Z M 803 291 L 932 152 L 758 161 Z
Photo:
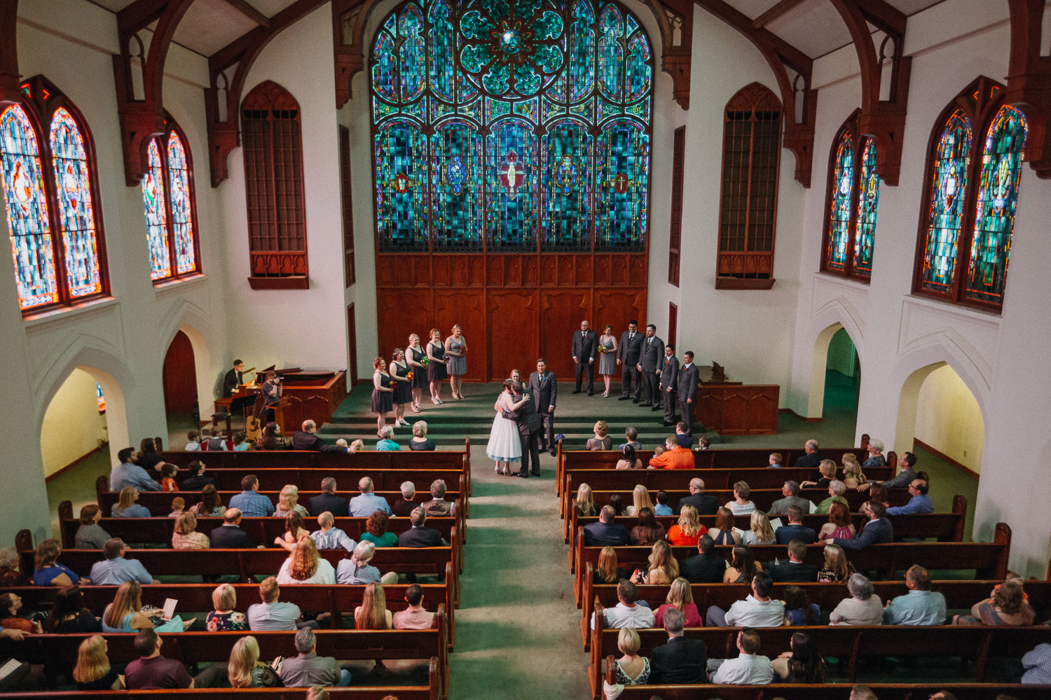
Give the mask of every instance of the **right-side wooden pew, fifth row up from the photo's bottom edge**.
M 771 515 L 772 517 L 772 515 Z M 850 515 L 851 521 L 856 530 L 860 530 L 861 527 L 868 521 L 868 516 L 862 515 L 860 513 L 852 513 Z M 967 499 L 960 495 L 959 493 L 952 497 L 952 512 L 950 513 L 918 513 L 910 515 L 891 515 L 889 516 L 891 523 L 894 525 L 894 539 L 927 539 L 929 537 L 934 537 L 937 542 L 963 542 L 964 540 L 964 526 L 967 519 Z M 664 531 L 667 530 L 679 522 L 678 515 L 658 515 L 656 517 L 657 522 L 664 526 Z M 616 523 L 623 525 L 628 531 L 636 525 L 639 521 L 634 515 L 621 515 L 614 518 Z M 570 532 L 576 532 L 579 527 L 586 527 L 592 523 L 597 523 L 598 517 L 590 515 L 588 517 L 581 517 L 577 515 L 577 509 L 570 509 Z M 787 524 L 788 518 L 783 517 L 783 523 Z M 804 515 L 803 525 L 811 528 L 815 532 L 821 531 L 821 526 L 828 522 L 827 515 Z M 716 524 L 715 515 L 701 515 L 701 523 L 704 527 L 710 529 Z M 748 531 L 751 526 L 750 515 L 737 515 L 734 518 L 734 524 L 744 530 Z M 570 540 L 570 571 L 573 571 L 573 559 L 576 556 L 577 539 L 576 537 L 568 537 Z

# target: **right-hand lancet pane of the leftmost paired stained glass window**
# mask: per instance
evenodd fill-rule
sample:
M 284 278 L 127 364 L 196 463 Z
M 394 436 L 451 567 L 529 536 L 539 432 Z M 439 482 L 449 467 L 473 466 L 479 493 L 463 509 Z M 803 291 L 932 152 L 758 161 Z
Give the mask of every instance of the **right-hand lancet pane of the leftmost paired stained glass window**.
M 77 123 L 64 107 L 51 118 L 50 145 L 69 296 L 98 294 L 102 278 L 87 152 Z

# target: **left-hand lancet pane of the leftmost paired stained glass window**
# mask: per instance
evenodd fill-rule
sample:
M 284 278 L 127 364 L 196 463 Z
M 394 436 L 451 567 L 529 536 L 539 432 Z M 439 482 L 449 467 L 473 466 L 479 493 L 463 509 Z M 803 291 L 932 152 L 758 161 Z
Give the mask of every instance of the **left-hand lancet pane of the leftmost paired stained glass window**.
M 54 303 L 59 300 L 58 280 L 40 148 L 28 116 L 18 105 L 0 113 L 0 157 L 19 305 L 26 310 Z

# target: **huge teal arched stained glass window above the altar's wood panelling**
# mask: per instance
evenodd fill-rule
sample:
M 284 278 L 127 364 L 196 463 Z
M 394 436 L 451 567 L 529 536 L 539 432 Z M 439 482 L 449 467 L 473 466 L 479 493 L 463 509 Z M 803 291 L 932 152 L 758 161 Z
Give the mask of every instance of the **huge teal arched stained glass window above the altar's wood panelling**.
M 653 49 L 610 0 L 410 0 L 372 47 L 380 251 L 642 251 Z

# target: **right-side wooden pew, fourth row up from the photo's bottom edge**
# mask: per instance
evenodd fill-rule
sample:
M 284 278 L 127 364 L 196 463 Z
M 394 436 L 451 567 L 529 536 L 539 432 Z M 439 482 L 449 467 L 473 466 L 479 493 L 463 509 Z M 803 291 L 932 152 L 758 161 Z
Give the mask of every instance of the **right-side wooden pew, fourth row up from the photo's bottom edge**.
M 787 558 L 787 550 L 783 545 L 753 545 L 751 550 L 757 561 L 770 561 L 775 558 Z M 974 569 L 976 579 L 993 580 L 1007 576 L 1007 560 L 1011 549 L 1011 528 L 1006 523 L 997 523 L 991 543 L 893 543 L 888 545 L 871 545 L 861 550 L 847 551 L 847 558 L 858 571 L 875 570 L 886 579 L 892 579 L 898 571 L 904 571 L 913 564 L 928 570 Z M 645 568 L 652 547 L 614 547 L 619 566 L 633 571 Z M 598 566 L 601 547 L 585 547 L 584 531 L 577 531 L 577 559 L 574 575 L 574 594 L 577 607 L 582 602 L 583 579 L 588 573 L 588 565 Z M 696 547 L 672 547 L 675 558 L 682 561 L 697 554 Z M 718 545 L 715 553 L 727 561 L 733 557 L 734 548 L 729 545 Z M 821 545 L 807 545 L 803 560 L 817 567 L 824 566 L 825 548 Z

